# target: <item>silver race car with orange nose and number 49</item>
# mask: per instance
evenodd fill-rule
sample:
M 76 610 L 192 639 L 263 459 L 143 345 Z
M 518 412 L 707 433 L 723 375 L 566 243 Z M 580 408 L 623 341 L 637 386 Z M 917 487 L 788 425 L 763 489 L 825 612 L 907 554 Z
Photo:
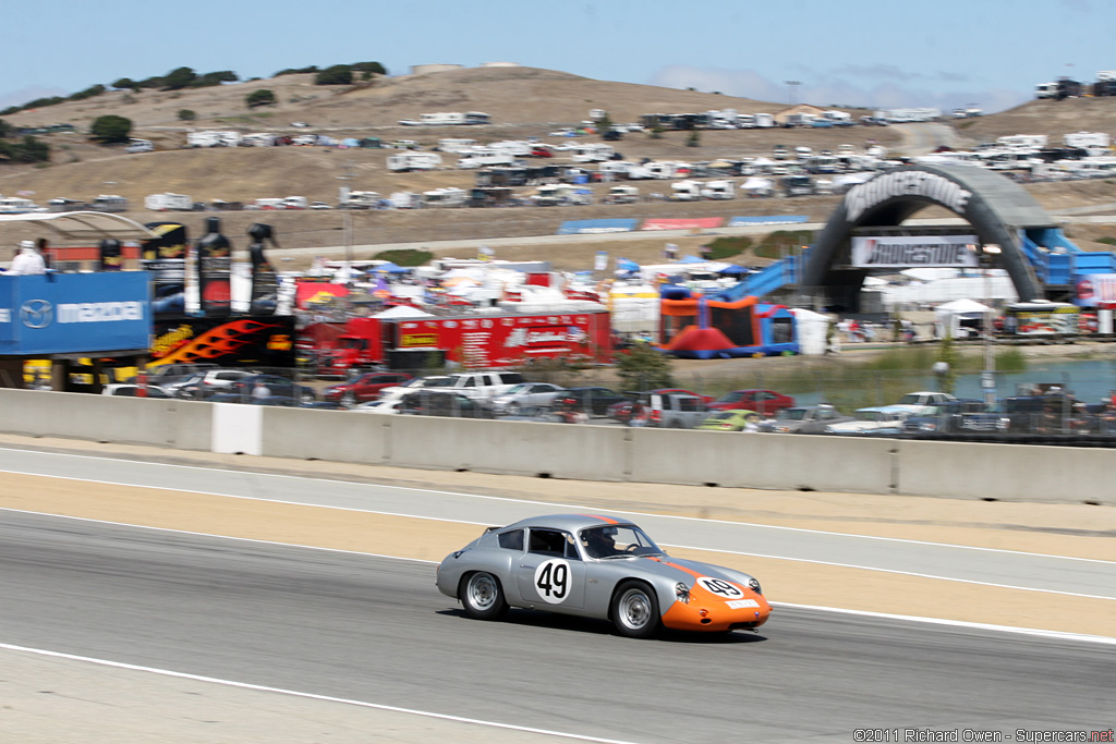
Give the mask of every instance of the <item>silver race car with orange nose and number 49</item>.
M 496 620 L 509 607 L 607 619 L 623 636 L 756 629 L 771 606 L 752 577 L 670 558 L 627 520 L 536 516 L 489 528 L 437 567 L 437 588 L 465 612 Z

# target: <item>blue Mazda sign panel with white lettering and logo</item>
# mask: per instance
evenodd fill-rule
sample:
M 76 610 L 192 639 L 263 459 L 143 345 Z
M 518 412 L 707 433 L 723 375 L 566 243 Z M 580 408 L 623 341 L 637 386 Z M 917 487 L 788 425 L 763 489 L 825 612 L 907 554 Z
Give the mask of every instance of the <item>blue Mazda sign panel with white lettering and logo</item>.
M 0 274 L 0 354 L 151 347 L 151 274 Z

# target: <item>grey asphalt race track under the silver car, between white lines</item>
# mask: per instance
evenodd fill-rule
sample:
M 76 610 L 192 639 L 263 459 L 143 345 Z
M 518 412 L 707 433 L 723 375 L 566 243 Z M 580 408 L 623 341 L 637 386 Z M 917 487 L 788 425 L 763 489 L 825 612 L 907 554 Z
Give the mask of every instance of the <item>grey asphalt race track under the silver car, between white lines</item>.
M 629 742 L 1113 724 L 1113 646 L 791 608 L 762 635 L 639 641 L 473 621 L 433 581 L 424 562 L 0 514 L 10 645 Z

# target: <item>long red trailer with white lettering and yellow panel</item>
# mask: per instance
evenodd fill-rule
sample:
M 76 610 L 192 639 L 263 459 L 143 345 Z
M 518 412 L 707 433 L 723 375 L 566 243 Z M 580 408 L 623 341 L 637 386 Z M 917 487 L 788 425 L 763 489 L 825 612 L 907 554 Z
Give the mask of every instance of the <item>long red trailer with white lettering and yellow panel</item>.
M 465 367 L 507 367 L 539 357 L 597 359 L 608 348 L 608 313 L 422 318 L 395 325 L 397 349 L 444 351 Z

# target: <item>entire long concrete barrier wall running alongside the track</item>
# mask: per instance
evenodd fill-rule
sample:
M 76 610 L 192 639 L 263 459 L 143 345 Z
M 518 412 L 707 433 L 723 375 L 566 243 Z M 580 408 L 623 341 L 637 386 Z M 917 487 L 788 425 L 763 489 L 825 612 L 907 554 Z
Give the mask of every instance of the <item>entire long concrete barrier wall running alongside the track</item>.
M 0 431 L 184 451 L 631 481 L 1116 505 L 1116 451 L 384 416 L 0 389 Z

